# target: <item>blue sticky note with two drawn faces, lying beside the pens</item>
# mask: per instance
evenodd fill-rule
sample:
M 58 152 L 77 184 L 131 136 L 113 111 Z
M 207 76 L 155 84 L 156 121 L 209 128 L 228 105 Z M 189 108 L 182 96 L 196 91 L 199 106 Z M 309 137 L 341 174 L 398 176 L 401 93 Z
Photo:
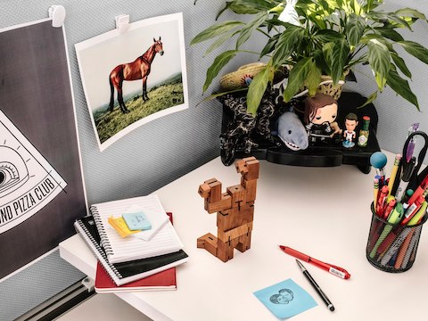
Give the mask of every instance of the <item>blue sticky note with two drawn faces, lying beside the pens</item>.
M 312 309 L 317 302 L 292 279 L 253 293 L 276 317 L 287 318 Z

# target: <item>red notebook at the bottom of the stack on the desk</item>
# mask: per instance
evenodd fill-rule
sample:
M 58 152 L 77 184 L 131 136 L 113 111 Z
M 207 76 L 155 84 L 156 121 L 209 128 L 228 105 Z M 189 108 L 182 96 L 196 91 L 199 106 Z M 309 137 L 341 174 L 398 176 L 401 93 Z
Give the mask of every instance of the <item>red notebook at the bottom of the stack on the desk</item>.
M 176 268 L 169 268 L 128 284 L 116 285 L 103 265 L 99 261 L 97 262 L 95 276 L 95 292 L 97 293 L 160 290 L 177 290 Z

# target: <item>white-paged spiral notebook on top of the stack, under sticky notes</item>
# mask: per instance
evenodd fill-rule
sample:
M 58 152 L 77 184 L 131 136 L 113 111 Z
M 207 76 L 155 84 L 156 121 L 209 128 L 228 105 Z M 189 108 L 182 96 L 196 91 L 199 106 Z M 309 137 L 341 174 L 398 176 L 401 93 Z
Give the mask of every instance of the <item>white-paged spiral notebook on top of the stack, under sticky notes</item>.
M 134 259 L 146 259 L 163 254 L 179 251 L 183 243 L 178 238 L 171 222 L 167 222 L 152 236 L 150 241 L 144 241 L 134 235 L 121 237 L 109 223 L 109 217 L 119 217 L 129 208 L 138 206 L 151 210 L 160 216 L 166 216 L 157 195 L 147 195 L 125 200 L 94 204 L 90 211 L 95 219 L 95 225 L 101 236 L 101 245 L 110 263 L 120 263 Z

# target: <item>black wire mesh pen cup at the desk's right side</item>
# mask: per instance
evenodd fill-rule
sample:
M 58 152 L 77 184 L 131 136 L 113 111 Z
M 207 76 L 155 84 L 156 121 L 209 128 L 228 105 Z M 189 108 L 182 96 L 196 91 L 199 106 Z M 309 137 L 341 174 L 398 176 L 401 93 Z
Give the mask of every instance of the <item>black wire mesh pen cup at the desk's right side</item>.
M 372 224 L 366 246 L 366 258 L 385 272 L 399 273 L 412 268 L 416 259 L 417 245 L 421 237 L 422 221 L 414 226 L 391 224 L 379 218 L 371 205 Z

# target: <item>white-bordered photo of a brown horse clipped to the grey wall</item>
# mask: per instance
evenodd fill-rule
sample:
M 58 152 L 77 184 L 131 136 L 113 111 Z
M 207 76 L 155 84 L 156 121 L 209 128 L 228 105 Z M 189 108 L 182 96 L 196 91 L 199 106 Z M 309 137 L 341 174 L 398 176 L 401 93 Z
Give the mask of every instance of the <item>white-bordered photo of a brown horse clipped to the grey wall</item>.
M 101 151 L 145 123 L 187 108 L 181 13 L 149 18 L 75 45 Z

